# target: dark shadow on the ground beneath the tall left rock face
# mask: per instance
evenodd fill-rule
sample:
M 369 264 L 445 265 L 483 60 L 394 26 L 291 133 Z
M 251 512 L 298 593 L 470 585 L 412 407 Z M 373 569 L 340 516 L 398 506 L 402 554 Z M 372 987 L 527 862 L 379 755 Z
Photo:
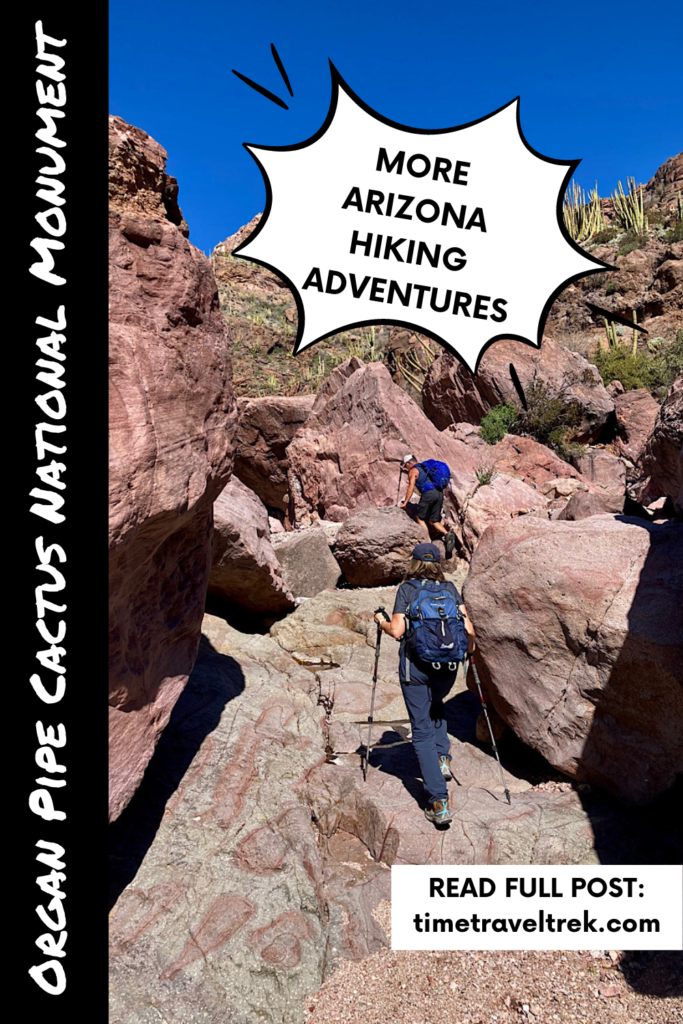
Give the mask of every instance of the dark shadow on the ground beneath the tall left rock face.
M 220 654 L 203 636 L 197 662 L 162 733 L 133 799 L 110 825 L 110 910 L 135 878 L 154 842 L 166 805 L 225 706 L 245 688 L 233 657 Z

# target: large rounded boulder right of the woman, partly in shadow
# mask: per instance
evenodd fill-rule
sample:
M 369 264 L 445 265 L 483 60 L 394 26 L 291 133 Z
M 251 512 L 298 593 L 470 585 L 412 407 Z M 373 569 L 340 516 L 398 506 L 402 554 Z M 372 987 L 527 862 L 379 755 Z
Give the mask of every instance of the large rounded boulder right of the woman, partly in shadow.
M 683 527 L 517 519 L 465 585 L 482 678 L 524 742 L 646 803 L 683 768 Z

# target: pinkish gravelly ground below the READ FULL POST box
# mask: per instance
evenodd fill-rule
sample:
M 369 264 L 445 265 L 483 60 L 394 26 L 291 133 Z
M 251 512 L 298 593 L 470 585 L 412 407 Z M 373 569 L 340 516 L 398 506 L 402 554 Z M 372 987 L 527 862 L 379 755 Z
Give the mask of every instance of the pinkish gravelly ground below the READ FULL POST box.
M 378 920 L 387 931 L 389 905 Z M 305 1024 L 681 1024 L 683 953 L 407 952 L 346 961 Z

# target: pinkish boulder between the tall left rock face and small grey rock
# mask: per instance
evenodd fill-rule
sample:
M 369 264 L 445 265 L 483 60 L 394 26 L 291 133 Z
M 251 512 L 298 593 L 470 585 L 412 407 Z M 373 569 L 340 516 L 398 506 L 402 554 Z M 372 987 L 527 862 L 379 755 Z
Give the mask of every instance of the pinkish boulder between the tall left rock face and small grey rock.
M 216 499 L 213 516 L 209 592 L 250 614 L 291 611 L 294 595 L 271 544 L 263 502 L 233 476 Z

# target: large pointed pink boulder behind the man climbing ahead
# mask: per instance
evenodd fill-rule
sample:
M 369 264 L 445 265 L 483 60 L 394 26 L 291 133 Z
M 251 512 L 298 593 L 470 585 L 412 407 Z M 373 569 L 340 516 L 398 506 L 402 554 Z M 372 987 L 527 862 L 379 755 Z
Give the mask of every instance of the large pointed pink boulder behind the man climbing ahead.
M 353 370 L 352 362 L 331 374 L 288 447 L 297 521 L 307 523 L 316 513 L 343 522 L 362 509 L 395 505 L 401 462 L 410 454 L 447 463 L 455 499 L 463 497 L 474 482 L 476 455 L 440 433 L 386 367 L 355 359 Z

